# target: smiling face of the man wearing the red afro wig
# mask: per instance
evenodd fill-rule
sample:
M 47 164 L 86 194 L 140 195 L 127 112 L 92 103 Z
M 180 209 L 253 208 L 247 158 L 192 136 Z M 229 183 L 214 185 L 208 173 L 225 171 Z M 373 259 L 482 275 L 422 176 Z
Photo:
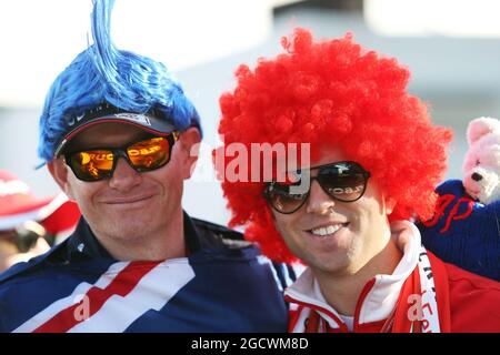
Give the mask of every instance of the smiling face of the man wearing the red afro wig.
M 338 151 L 326 151 L 314 166 L 348 160 Z M 317 170 L 311 171 L 314 176 Z M 312 271 L 348 275 L 358 272 L 389 243 L 388 214 L 393 204 L 368 181 L 354 202 L 331 199 L 311 183 L 304 205 L 292 214 L 273 211 L 276 226 L 290 251 Z

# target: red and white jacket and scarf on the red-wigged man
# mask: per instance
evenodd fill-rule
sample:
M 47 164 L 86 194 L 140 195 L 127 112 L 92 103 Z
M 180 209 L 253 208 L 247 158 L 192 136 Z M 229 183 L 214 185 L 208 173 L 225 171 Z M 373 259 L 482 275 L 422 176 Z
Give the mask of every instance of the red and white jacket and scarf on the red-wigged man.
M 298 305 L 291 311 L 289 331 L 500 332 L 500 283 L 447 264 L 424 250 L 422 253 L 418 247 L 420 233 L 409 223 L 402 227 L 409 241 L 401 245 L 402 261 L 392 275 L 378 275 L 367 283 L 353 320 L 344 322 L 349 317 L 324 301 L 312 272 L 307 270 L 286 292 L 287 301 Z M 422 295 L 419 308 L 410 302 L 418 294 Z M 420 310 L 419 317 L 413 316 L 414 310 Z M 352 323 L 350 329 L 348 323 Z

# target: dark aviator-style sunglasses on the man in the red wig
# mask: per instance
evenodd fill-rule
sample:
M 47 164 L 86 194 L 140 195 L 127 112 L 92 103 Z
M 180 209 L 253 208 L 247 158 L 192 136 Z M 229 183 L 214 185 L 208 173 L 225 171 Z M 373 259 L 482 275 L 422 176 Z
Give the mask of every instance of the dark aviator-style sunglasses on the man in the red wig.
M 312 170 L 319 170 L 318 175 L 310 178 Z M 307 191 L 300 191 L 301 181 L 286 184 L 276 181 L 267 184 L 264 197 L 277 212 L 290 214 L 298 211 L 308 200 L 311 184 L 316 180 L 321 189 L 333 200 L 354 202 L 364 194 L 370 173 L 360 164 L 351 161 L 330 163 L 298 171 L 299 176 L 309 179 Z M 302 187 L 303 189 L 303 187 Z

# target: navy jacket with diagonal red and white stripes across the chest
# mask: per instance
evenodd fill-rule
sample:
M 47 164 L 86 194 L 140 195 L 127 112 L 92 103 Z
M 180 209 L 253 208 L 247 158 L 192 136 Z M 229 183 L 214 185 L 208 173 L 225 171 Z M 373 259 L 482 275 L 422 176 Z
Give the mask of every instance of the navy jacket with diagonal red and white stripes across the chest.
M 286 332 L 283 286 L 237 232 L 184 214 L 189 256 L 119 262 L 81 219 L 49 253 L 0 275 L 0 332 Z

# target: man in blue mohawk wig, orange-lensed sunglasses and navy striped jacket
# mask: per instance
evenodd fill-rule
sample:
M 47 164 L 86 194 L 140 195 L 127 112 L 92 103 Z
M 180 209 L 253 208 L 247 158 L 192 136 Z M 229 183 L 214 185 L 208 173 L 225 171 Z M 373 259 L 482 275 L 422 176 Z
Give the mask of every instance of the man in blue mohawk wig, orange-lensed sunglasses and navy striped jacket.
M 182 211 L 200 118 L 162 63 L 114 48 L 112 6 L 93 1 L 93 44 L 40 118 L 39 155 L 82 217 L 0 275 L 0 332 L 284 332 L 292 271 Z

